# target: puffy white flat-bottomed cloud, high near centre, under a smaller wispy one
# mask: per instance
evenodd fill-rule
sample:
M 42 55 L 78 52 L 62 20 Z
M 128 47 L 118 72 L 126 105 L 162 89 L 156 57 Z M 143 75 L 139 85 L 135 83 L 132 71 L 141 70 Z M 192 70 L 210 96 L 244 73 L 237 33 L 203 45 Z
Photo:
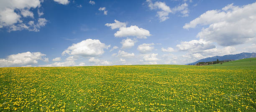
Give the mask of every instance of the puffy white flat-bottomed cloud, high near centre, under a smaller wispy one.
M 131 25 L 130 27 L 120 27 L 119 31 L 117 31 L 114 35 L 115 35 L 115 37 L 135 36 L 137 38 L 146 39 L 147 36 L 150 36 L 150 33 L 148 30 L 139 28 L 136 25 L 134 25 L 134 26 Z

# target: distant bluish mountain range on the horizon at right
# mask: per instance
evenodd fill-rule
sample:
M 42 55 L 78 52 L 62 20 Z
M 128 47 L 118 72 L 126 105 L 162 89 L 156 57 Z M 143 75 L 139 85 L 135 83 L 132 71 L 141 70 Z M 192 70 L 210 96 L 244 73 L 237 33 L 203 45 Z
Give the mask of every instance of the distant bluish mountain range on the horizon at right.
M 256 57 L 256 53 L 243 52 L 243 53 L 236 54 L 236 55 L 207 57 L 207 58 L 198 60 L 196 62 L 188 63 L 186 65 L 194 65 L 194 64 L 197 64 L 198 62 L 211 62 L 211 61 L 216 61 L 217 59 L 220 61 L 222 61 L 222 60 L 241 60 L 243 58 L 251 58 L 251 57 Z

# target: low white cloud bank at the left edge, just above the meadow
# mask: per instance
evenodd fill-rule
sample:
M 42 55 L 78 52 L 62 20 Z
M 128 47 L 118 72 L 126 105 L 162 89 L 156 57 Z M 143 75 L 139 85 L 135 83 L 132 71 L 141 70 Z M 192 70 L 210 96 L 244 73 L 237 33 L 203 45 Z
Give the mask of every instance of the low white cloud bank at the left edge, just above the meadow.
M 34 65 L 38 63 L 38 60 L 48 62 L 49 59 L 44 56 L 46 55 L 41 52 L 23 52 L 15 55 L 9 55 L 5 59 L 0 59 L 0 67 Z

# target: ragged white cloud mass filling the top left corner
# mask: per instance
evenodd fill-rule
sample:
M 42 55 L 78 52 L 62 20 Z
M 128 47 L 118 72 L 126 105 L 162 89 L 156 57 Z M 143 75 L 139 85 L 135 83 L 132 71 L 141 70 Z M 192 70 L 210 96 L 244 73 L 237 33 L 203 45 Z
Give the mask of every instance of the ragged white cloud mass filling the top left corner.
M 6 27 L 8 32 L 17 30 L 29 30 L 38 32 L 40 27 L 46 25 L 45 18 L 34 18 L 31 9 L 41 6 L 43 0 L 3 0 L 0 2 L 0 28 Z M 43 15 L 38 10 L 38 16 Z M 24 18 L 33 19 L 27 23 L 23 22 Z M 30 17 L 30 18 L 28 18 Z M 34 21 L 37 20 L 37 21 Z

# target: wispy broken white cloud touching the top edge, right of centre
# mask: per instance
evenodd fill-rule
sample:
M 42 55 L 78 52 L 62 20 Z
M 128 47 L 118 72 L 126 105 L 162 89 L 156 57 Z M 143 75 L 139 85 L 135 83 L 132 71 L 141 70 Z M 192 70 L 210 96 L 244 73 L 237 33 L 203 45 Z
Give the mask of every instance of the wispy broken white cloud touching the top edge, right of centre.
M 152 2 L 151 0 L 146 0 L 148 2 L 148 7 L 150 7 L 151 10 L 154 9 L 159 9 L 160 11 L 157 11 L 157 17 L 159 17 L 160 22 L 163 22 L 167 19 L 169 19 L 168 15 L 169 13 L 177 13 L 180 12 L 182 13 L 183 17 L 188 16 L 189 10 L 188 10 L 188 5 L 187 3 L 183 3 L 182 5 L 176 6 L 174 8 L 170 8 L 169 6 L 167 6 L 164 2 Z

